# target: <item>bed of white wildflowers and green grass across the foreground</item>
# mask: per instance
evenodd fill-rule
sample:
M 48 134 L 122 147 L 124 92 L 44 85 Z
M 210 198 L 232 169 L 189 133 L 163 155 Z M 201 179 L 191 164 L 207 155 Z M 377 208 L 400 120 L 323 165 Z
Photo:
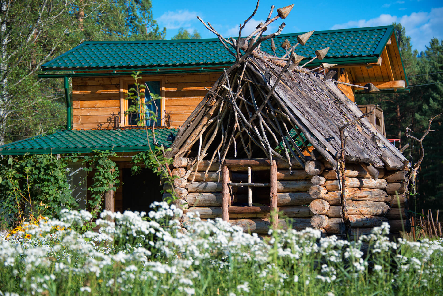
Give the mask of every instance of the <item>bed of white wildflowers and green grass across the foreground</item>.
M 0 240 L 2 295 L 443 293 L 442 240 L 389 242 L 388 224 L 358 241 L 314 229 L 273 231 L 262 240 L 221 219 L 192 217 L 183 231 L 175 218 L 181 210 L 156 205 L 146 217 L 104 212 L 99 233 L 73 230 L 90 219 L 85 211 L 23 225 Z

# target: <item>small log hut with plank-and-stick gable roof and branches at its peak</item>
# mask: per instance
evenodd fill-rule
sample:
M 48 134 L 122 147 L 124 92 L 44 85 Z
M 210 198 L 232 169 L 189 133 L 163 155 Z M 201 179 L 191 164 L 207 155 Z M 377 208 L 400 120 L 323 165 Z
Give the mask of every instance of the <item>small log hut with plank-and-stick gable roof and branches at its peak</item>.
M 270 226 L 286 228 L 282 217 L 293 218 L 294 229 L 325 234 L 366 234 L 384 221 L 391 233 L 408 230 L 408 161 L 330 79 L 334 65 L 299 66 L 304 57 L 296 47 L 313 31 L 282 44 L 283 57 L 259 49 L 285 24 L 263 36 L 266 27 L 291 8 L 272 18 L 272 6 L 265 24 L 238 39 L 223 38 L 199 18 L 237 62 L 208 89 L 167 155 L 179 176 L 183 220 L 199 212 L 263 234 Z M 311 61 L 327 50 L 315 51 Z

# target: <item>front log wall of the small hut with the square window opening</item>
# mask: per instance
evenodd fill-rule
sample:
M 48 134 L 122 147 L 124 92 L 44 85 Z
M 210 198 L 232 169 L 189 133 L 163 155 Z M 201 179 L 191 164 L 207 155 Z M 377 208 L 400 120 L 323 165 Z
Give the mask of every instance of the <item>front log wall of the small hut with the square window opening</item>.
M 176 196 L 185 203 L 184 215 L 199 213 L 201 219 L 214 219 L 222 217 L 222 174 L 219 163 L 211 163 L 204 160 L 199 163 L 198 171 L 187 175 L 193 159 L 175 158 L 172 174 L 178 176 L 174 180 Z M 229 181 L 248 182 L 248 164 L 237 159 L 227 159 L 226 166 L 229 168 Z M 270 165 L 268 160 L 253 160 L 251 169 L 254 173 L 268 174 Z M 206 173 L 206 170 L 208 172 Z M 293 160 L 292 168 L 289 170 L 287 162 L 277 161 L 277 210 L 280 213 L 279 225 L 287 228 L 286 222 L 281 217 L 292 218 L 291 228 L 305 229 L 311 227 L 311 213 L 309 204 L 313 200 L 309 195 L 312 186 L 312 175 Z M 268 233 L 271 226 L 270 205 L 262 206 L 232 206 L 233 202 L 247 202 L 247 186 L 232 186 L 232 199 L 228 207 L 229 223 L 237 225 L 245 232 Z M 255 193 L 253 200 L 269 200 L 268 187 L 265 193 Z M 261 191 L 261 188 L 257 191 Z M 186 220 L 186 217 L 184 217 Z

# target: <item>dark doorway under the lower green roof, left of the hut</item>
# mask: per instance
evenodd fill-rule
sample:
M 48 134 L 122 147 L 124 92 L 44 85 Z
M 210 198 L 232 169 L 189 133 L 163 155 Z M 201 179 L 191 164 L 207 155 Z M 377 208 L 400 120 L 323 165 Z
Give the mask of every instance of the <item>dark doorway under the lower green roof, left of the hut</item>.
M 123 211 L 148 213 L 154 201 L 161 201 L 160 177 L 151 169 L 141 169 L 133 175 L 131 169 L 123 169 Z

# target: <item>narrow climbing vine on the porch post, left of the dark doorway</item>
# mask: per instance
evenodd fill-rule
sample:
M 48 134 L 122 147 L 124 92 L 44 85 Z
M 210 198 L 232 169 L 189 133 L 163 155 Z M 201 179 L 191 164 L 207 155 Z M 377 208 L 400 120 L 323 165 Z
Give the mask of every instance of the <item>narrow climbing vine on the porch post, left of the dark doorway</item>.
M 118 179 L 118 167 L 117 164 L 111 159 L 117 157 L 117 154 L 106 151 L 93 151 L 93 156 L 85 155 L 83 163 L 87 164 L 86 171 L 91 172 L 94 170 L 92 178 L 92 185 L 88 188 L 91 192 L 91 197 L 88 199 L 88 204 L 91 208 L 92 218 L 95 219 L 97 214 L 101 212 L 101 206 L 103 204 L 103 198 L 105 193 L 109 190 L 116 191 L 120 180 Z M 95 225 L 90 223 L 90 226 Z M 86 229 L 86 228 L 84 228 Z

